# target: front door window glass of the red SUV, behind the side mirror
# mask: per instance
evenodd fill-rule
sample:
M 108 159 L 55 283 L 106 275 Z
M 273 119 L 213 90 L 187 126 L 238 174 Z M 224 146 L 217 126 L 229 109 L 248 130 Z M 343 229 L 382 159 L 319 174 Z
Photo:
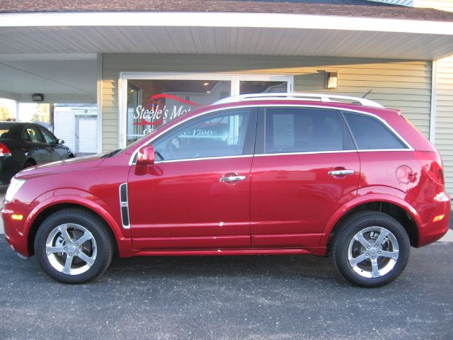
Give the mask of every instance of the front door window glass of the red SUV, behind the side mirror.
M 152 143 L 156 161 L 241 155 L 250 122 L 248 108 L 195 118 Z

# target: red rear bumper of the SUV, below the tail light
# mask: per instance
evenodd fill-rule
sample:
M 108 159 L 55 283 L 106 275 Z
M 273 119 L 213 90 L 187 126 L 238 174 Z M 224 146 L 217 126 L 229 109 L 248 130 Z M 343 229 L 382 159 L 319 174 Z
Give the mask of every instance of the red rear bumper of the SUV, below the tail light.
M 449 229 L 450 215 L 452 212 L 451 198 L 445 193 L 440 198 L 437 208 L 432 213 L 428 223 L 418 229 L 418 246 L 425 246 L 442 238 Z M 442 217 L 442 220 L 435 220 L 435 217 Z

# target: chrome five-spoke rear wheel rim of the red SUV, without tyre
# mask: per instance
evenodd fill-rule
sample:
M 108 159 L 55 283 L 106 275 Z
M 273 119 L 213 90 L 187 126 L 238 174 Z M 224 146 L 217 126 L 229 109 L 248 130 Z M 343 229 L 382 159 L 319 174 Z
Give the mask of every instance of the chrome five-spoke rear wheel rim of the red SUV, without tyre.
M 352 270 L 364 278 L 379 278 L 389 273 L 399 256 L 398 241 L 383 227 L 367 227 L 352 237 L 348 260 Z

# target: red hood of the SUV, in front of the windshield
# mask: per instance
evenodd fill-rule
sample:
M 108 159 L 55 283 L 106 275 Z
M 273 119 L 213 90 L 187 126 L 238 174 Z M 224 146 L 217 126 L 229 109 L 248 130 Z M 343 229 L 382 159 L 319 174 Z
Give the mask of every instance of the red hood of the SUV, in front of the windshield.
M 34 176 L 61 174 L 62 172 L 93 169 L 103 162 L 103 154 L 93 154 L 86 157 L 64 159 L 63 161 L 31 166 L 16 174 L 16 179 L 28 179 Z

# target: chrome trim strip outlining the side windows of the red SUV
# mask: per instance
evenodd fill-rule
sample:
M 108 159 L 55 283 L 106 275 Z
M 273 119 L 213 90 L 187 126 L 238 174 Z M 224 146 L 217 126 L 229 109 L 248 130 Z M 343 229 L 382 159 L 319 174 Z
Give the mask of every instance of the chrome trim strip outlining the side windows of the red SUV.
M 361 113 L 363 115 L 369 115 L 373 118 L 376 118 L 377 120 L 379 120 L 381 123 L 383 123 L 386 128 L 388 128 L 392 133 L 394 133 L 394 135 L 396 135 L 396 137 L 398 137 L 399 140 L 401 140 L 401 142 L 403 142 L 403 144 L 407 147 L 407 149 L 364 149 L 364 150 L 341 150 L 341 151 L 326 151 L 326 152 L 295 152 L 295 153 L 286 153 L 286 154 L 307 154 L 307 153 L 313 153 L 313 154 L 320 154 L 320 153 L 332 153 L 332 152 L 383 152 L 383 151 L 414 151 L 413 147 L 403 138 L 401 137 L 401 135 L 396 132 L 394 130 L 394 128 L 392 128 L 389 123 L 387 123 L 384 119 L 380 118 L 378 115 L 374 115 L 373 113 L 369 113 L 369 112 L 366 112 L 366 111 L 361 111 L 361 110 L 354 110 L 354 109 L 350 109 L 350 108 L 337 108 L 335 106 L 319 106 L 319 105 L 303 105 L 302 103 L 301 104 L 298 104 L 298 105 L 295 105 L 295 104 L 260 104 L 260 105 L 253 105 L 253 104 L 248 104 L 248 105 L 238 105 L 238 106 L 229 106 L 229 107 L 226 107 L 226 108 L 214 108 L 210 111 L 205 111 L 205 112 L 202 112 L 202 113 L 198 113 L 197 115 L 193 115 L 192 117 L 189 117 L 185 120 L 181 120 L 178 124 L 176 125 L 173 125 L 173 127 L 171 129 L 165 129 L 163 131 L 161 131 L 158 135 L 156 135 L 156 137 L 153 137 L 151 140 L 149 140 L 148 142 L 143 142 L 141 145 L 139 145 L 139 147 L 137 147 L 137 149 L 134 150 L 134 152 L 132 152 L 132 155 L 129 159 L 129 165 L 134 165 L 134 158 L 135 156 L 137 155 L 137 152 L 139 152 L 139 149 L 141 149 L 142 147 L 144 147 L 145 145 L 149 145 L 151 144 L 152 142 L 154 142 L 154 140 L 156 140 L 157 138 L 161 137 L 161 135 L 164 135 L 164 133 L 168 132 L 168 131 L 171 131 L 173 130 L 174 128 L 178 127 L 179 125 L 185 123 L 185 122 L 188 122 L 189 120 L 193 120 L 195 118 L 198 118 L 198 117 L 201 117 L 202 115 L 207 115 L 207 114 L 210 114 L 210 113 L 214 113 L 214 112 L 217 112 L 217 111 L 226 111 L 226 110 L 232 110 L 232 109 L 236 109 L 236 108 L 270 108 L 270 107 L 294 107 L 294 108 L 327 108 L 327 109 L 331 109 L 331 110 L 336 110 L 336 111 L 346 111 L 346 112 L 353 112 L 353 113 Z M 396 114 L 396 113 L 395 113 Z M 263 155 L 278 155 L 278 154 L 285 154 L 285 153 L 277 153 L 277 154 L 255 154 L 254 156 L 263 156 Z M 248 157 L 248 155 L 241 155 L 241 156 L 244 156 L 244 157 Z M 234 156 L 224 156 L 224 157 L 209 157 L 209 159 L 217 159 L 217 158 L 232 158 Z M 194 158 L 194 159 L 174 159 L 174 160 L 171 160 L 171 161 L 161 161 L 162 163 L 164 162 L 187 162 L 187 161 L 195 161 L 195 160 L 200 160 L 202 158 Z M 158 162 L 156 162 L 158 163 Z

